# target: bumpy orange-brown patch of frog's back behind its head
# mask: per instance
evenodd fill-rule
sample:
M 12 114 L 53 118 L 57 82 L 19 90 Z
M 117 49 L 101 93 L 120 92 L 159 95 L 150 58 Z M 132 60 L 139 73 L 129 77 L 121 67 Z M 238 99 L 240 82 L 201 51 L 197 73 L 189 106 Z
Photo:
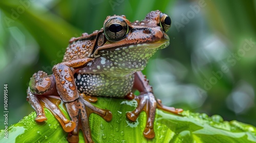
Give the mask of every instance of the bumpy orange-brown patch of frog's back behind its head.
M 83 33 L 80 37 L 72 37 L 63 57 L 63 62 L 90 57 L 97 38 L 98 31 L 92 34 Z

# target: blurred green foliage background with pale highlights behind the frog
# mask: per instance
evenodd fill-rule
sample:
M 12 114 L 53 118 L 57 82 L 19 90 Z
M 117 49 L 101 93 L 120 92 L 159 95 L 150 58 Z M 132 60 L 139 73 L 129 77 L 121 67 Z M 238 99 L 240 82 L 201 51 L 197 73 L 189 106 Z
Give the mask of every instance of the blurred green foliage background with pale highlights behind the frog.
M 144 19 L 152 10 L 172 18 L 170 45 L 143 73 L 163 104 L 219 114 L 256 126 L 256 1 L 0 1 L 0 129 L 4 84 L 9 125 L 34 111 L 26 101 L 33 73 L 51 74 L 71 37 L 103 27 L 108 15 Z

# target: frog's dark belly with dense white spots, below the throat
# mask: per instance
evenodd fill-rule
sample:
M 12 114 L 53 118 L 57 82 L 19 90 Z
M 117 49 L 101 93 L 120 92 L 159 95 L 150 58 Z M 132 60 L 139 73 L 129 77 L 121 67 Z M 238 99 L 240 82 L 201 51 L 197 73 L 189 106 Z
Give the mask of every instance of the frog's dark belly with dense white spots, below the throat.
M 78 92 L 87 96 L 122 98 L 132 91 L 134 75 L 113 78 L 104 74 L 75 74 Z

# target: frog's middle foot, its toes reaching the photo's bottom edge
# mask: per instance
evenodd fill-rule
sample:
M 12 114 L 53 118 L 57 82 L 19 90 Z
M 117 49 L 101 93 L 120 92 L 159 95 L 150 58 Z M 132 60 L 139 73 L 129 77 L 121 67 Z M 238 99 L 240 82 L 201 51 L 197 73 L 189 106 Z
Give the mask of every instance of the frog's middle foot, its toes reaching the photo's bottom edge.
M 83 136 L 87 142 L 93 142 L 89 125 L 89 116 L 91 113 L 100 115 L 107 122 L 112 120 L 112 113 L 109 110 L 97 108 L 90 103 L 96 101 L 97 98 L 95 97 L 89 97 L 84 96 L 84 94 L 80 94 L 80 97 L 76 101 L 66 103 L 69 115 L 72 121 L 74 121 L 76 124 L 75 129 L 70 132 L 67 138 L 69 142 L 79 141 L 79 129 L 82 130 Z

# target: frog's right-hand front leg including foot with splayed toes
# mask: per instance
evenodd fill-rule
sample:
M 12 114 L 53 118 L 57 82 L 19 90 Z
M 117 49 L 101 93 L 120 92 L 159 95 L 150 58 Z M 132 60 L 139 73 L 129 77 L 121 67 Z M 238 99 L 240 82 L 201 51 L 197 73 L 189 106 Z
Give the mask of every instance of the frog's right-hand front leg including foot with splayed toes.
M 135 73 L 134 89 L 137 89 L 140 91 L 140 95 L 135 97 L 136 101 L 138 102 L 138 106 L 134 111 L 127 112 L 126 116 L 131 121 L 136 121 L 141 111 L 146 112 L 147 122 L 143 132 L 146 138 L 155 137 L 154 120 L 155 120 L 156 108 L 159 108 L 168 112 L 173 112 L 173 113 L 179 113 L 183 111 L 182 109 L 175 109 L 174 107 L 164 106 L 161 104 L 160 100 L 156 100 L 153 94 L 152 86 L 148 84 L 148 80 L 141 73 L 141 71 L 138 71 Z

